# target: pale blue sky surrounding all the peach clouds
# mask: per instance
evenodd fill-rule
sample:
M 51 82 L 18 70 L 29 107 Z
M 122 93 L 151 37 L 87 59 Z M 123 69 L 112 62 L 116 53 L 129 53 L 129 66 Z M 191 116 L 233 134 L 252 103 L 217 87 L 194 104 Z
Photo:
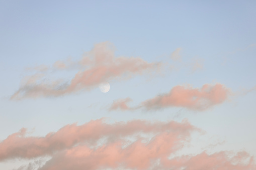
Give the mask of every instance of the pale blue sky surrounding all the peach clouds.
M 255 7 L 256 1 L 1 1 L 0 140 L 22 127 L 45 135 L 68 123 L 101 117 L 111 121 L 188 118 L 206 131 L 205 145 L 215 135 L 226 141 L 216 150 L 245 149 L 256 156 L 256 92 L 243 94 L 256 85 Z M 57 98 L 9 100 L 22 78 L 31 74 L 27 67 L 51 66 L 68 57 L 76 61 L 105 41 L 114 44 L 116 56 L 169 62 L 177 69 L 165 69 L 152 78 L 139 75 L 110 82 L 106 94 L 95 88 Z M 182 48 L 182 63 L 170 59 L 177 48 Z M 192 73 L 195 59 L 202 61 L 203 69 Z M 68 79 L 75 73 L 62 71 L 57 76 Z M 118 98 L 130 97 L 131 105 L 136 105 L 176 85 L 200 88 L 216 82 L 233 95 L 206 111 L 107 111 Z M 17 168 L 19 163 L 0 162 L 0 169 Z

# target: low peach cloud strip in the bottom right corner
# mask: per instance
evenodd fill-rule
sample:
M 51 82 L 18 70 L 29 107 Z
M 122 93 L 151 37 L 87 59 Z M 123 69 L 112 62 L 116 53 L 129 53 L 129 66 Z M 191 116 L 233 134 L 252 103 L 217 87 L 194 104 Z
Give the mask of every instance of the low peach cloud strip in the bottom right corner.
M 246 161 L 247 159 L 249 161 Z M 185 155 L 179 158 L 165 160 L 162 164 L 164 164 L 163 167 L 174 167 L 174 169 L 250 170 L 256 168 L 253 157 L 244 151 L 237 152 L 234 156 L 231 156 L 226 151 L 214 154 L 203 152 L 195 156 Z

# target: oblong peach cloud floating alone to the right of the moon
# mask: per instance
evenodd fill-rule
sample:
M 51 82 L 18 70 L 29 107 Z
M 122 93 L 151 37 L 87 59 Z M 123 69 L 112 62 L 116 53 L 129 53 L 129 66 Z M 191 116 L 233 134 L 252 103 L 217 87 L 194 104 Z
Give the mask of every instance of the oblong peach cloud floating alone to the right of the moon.
M 227 100 L 229 90 L 222 84 L 205 84 L 201 89 L 175 86 L 166 94 L 162 94 L 142 102 L 146 109 L 165 107 L 184 107 L 193 110 L 205 110 Z

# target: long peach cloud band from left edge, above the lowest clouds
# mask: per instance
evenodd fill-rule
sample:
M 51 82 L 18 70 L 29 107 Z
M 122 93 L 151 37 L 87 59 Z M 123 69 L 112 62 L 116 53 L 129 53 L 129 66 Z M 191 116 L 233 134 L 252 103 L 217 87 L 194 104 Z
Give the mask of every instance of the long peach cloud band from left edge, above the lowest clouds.
M 120 140 L 122 137 L 138 133 L 169 132 L 189 136 L 190 131 L 196 128 L 188 122 L 148 122 L 133 120 L 129 122 L 116 122 L 106 124 L 102 119 L 90 121 L 79 125 L 71 124 L 62 127 L 55 133 L 48 133 L 44 137 L 26 137 L 26 129 L 11 134 L 0 142 L 0 161 L 9 158 L 33 158 L 42 155 L 51 155 L 77 144 L 93 146 L 98 140 L 105 138 L 107 141 Z

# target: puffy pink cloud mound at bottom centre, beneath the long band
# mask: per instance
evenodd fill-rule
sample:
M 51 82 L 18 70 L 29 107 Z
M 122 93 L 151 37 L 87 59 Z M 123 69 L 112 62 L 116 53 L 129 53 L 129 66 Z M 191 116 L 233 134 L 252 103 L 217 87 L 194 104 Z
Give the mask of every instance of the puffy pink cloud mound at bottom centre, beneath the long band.
M 179 133 L 163 132 L 149 142 L 137 140 L 125 148 L 120 141 L 97 149 L 81 145 L 68 149 L 62 154 L 54 155 L 42 169 L 104 169 L 120 166 L 148 169 L 153 161 L 167 158 L 170 153 L 182 147 L 182 141 L 186 137 Z

